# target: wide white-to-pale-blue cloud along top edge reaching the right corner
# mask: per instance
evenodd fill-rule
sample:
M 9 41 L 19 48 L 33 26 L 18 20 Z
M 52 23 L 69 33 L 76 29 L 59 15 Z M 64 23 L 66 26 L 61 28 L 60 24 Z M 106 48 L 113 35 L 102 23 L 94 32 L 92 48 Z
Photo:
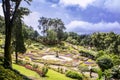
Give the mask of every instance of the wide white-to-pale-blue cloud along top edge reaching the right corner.
M 75 6 L 86 9 L 89 5 L 106 9 L 113 13 L 120 13 L 120 0 L 60 0 L 62 6 Z

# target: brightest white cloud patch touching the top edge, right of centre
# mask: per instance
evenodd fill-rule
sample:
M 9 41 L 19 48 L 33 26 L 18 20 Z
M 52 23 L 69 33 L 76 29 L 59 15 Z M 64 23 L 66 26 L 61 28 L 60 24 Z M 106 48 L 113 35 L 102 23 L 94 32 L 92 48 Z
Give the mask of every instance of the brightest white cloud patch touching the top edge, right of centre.
M 60 4 L 64 6 L 78 5 L 81 8 L 86 8 L 88 5 L 92 4 L 95 0 L 60 0 Z

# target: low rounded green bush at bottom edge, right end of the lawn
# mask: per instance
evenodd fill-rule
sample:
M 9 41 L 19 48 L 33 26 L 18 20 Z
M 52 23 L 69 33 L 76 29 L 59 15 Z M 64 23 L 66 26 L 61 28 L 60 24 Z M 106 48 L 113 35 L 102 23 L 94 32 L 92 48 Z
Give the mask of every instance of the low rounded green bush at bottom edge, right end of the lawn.
M 75 71 L 67 71 L 66 76 L 78 80 L 83 80 L 82 74 L 77 73 Z

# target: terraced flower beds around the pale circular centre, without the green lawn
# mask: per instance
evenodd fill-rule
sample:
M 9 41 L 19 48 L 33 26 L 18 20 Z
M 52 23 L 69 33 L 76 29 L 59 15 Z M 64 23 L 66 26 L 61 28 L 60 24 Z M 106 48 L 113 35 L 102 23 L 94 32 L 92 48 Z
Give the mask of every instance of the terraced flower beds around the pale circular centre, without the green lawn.
M 19 54 L 19 60 L 23 62 L 27 62 L 30 64 L 36 64 L 40 67 L 44 66 L 44 64 L 48 64 L 49 68 L 65 74 L 69 70 L 74 70 L 79 72 L 86 77 L 90 78 L 89 76 L 89 66 L 94 69 L 99 69 L 96 62 L 92 59 L 87 57 L 81 56 L 79 50 L 87 50 L 81 46 L 75 46 L 66 42 L 63 42 L 65 46 L 59 47 L 57 46 L 44 46 L 42 44 L 31 44 L 28 47 L 28 50 L 25 54 Z M 94 52 L 91 50 L 87 50 L 90 52 Z M 94 52 L 94 54 L 97 54 Z M 58 56 L 56 56 L 58 55 Z M 14 55 L 13 55 L 14 57 Z M 91 79 L 97 79 L 98 74 L 92 74 Z

